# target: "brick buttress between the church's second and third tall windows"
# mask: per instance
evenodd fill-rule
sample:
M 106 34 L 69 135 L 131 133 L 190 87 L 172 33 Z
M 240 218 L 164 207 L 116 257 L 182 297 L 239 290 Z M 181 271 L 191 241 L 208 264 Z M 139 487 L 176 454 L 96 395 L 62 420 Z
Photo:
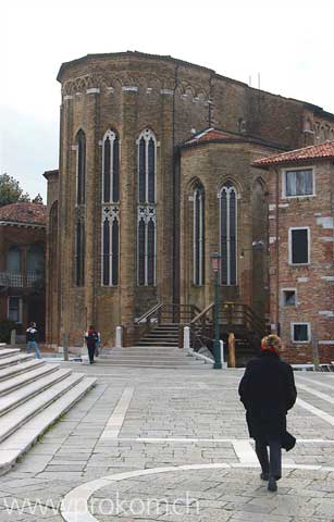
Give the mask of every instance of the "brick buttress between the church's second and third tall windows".
M 121 322 L 127 330 L 127 344 L 132 344 L 137 285 L 137 87 L 122 87 L 120 290 Z

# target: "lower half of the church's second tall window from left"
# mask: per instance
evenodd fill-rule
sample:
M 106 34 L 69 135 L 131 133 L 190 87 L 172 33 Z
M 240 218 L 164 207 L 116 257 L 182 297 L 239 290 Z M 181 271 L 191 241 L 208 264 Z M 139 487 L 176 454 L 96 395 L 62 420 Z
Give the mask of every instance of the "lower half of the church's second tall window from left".
M 104 208 L 102 216 L 102 286 L 117 286 L 120 265 L 119 208 Z

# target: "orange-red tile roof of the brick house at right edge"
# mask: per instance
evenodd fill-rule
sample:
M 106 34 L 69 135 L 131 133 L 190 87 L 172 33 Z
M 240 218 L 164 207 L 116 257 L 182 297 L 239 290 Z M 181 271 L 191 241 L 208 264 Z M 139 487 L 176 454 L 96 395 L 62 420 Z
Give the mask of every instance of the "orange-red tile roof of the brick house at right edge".
M 334 141 L 326 141 L 320 145 L 310 145 L 302 149 L 292 150 L 289 152 L 283 152 L 281 154 L 270 156 L 257 160 L 252 163 L 253 166 L 268 169 L 271 165 L 279 165 L 283 163 L 302 163 L 311 160 L 323 160 L 327 158 L 334 158 Z

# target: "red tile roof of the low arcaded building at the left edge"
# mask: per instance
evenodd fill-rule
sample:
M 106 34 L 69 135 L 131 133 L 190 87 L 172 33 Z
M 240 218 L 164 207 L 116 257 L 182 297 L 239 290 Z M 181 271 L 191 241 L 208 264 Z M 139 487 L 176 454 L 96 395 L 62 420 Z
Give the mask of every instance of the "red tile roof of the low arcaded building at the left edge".
M 47 207 L 36 203 L 5 204 L 0 207 L 0 222 L 46 226 Z

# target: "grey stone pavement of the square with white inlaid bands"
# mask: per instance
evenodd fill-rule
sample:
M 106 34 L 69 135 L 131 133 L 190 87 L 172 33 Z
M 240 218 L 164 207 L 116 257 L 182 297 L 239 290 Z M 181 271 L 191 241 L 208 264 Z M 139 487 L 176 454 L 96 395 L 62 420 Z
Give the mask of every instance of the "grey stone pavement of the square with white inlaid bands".
M 242 371 L 81 371 L 97 386 L 0 477 L 0 522 L 334 520 L 334 375 L 296 374 L 298 444 L 272 494 L 237 396 Z

